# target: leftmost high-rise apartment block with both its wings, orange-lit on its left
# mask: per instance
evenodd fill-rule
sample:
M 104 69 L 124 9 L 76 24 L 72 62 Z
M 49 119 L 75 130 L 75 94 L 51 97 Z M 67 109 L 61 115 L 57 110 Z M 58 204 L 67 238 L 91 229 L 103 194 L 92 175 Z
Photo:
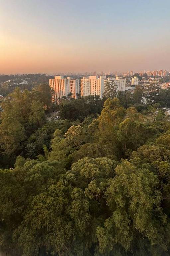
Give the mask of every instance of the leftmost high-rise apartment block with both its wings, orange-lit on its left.
M 70 92 L 76 98 L 76 93 L 79 93 L 79 80 L 72 77 L 54 76 L 54 79 L 49 79 L 49 86 L 54 90 L 54 101 L 67 97 Z

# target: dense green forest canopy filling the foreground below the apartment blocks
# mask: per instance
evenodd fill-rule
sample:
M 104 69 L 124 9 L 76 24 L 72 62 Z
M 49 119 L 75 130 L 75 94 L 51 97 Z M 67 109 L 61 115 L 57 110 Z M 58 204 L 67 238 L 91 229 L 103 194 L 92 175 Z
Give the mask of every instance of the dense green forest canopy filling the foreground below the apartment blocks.
M 1 104 L 1 250 L 170 255 L 170 90 L 63 99 L 47 121 L 51 93 L 16 88 Z

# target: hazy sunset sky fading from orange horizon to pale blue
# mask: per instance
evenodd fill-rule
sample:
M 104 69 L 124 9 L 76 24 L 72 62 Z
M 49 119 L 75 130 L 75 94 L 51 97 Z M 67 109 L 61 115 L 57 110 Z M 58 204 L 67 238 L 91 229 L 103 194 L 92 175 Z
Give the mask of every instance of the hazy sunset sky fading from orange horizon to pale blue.
M 0 0 L 0 74 L 170 71 L 169 0 Z

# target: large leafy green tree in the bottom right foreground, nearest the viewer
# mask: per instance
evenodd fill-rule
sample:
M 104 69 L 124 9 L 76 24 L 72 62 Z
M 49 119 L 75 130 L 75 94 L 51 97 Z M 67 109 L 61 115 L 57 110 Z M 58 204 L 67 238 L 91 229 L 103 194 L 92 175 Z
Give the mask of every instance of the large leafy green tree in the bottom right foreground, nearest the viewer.
M 133 241 L 140 240 L 141 235 L 151 244 L 167 248 L 167 241 L 160 239 L 167 237 L 169 228 L 166 228 L 166 215 L 160 208 L 161 196 L 154 190 L 158 184 L 156 175 L 125 160 L 115 173 L 106 192 L 112 213 L 104 226 L 97 228 L 100 252 L 109 253 L 119 244 L 136 255 Z

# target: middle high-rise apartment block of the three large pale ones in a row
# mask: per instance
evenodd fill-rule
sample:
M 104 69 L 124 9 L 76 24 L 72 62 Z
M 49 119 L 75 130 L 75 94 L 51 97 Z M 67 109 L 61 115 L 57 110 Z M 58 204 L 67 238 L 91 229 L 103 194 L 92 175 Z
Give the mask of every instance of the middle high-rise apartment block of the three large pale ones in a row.
M 97 76 L 83 77 L 81 79 L 81 96 L 99 95 L 101 98 L 104 93 L 104 77 Z

